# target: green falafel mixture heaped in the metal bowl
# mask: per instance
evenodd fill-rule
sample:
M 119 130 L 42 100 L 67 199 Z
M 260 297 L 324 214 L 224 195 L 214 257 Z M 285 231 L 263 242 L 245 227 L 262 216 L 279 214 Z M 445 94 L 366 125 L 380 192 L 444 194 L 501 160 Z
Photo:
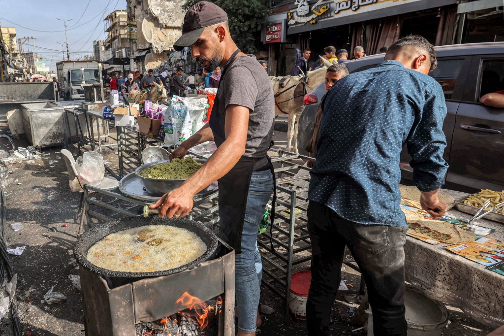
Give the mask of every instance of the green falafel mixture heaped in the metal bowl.
M 187 179 L 190 178 L 203 163 L 193 160 L 191 157 L 184 159 L 175 158 L 171 162 L 160 163 L 148 167 L 140 173 L 143 177 L 149 179 Z

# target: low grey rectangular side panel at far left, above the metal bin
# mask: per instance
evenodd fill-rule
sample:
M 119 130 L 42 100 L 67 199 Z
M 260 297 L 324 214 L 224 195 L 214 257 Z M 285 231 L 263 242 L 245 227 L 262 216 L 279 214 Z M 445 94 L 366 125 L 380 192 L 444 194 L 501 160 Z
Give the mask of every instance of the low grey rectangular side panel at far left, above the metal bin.
M 37 100 L 54 101 L 52 82 L 0 83 L 0 104 Z

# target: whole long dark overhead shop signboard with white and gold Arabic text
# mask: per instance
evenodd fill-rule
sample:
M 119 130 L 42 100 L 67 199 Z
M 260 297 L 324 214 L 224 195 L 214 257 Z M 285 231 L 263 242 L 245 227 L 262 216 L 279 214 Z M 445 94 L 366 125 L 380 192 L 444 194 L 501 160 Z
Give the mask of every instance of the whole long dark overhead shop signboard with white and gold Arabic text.
M 368 21 L 405 13 L 422 11 L 430 8 L 457 4 L 458 0 L 409 0 L 408 2 L 376 0 L 348 0 L 341 2 L 316 2 L 309 4 L 310 11 L 293 6 L 288 13 L 287 34 L 299 34 L 307 31 L 347 25 L 354 22 Z M 306 13 L 306 14 L 303 14 Z M 303 15 L 299 15 L 303 14 Z

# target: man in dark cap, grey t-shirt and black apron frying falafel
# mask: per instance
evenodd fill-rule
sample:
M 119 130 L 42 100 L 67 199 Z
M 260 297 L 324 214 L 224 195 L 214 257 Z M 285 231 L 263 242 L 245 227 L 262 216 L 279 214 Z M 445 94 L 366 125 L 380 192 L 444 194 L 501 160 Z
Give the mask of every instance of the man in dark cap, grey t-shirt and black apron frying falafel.
M 194 195 L 219 181 L 219 234 L 236 251 L 237 335 L 253 336 L 261 323 L 258 225 L 274 188 L 268 148 L 275 102 L 268 74 L 253 55 L 237 48 L 227 21 L 227 14 L 208 2 L 197 3 L 185 14 L 175 50 L 191 46 L 193 57 L 206 71 L 220 67 L 222 74 L 210 122 L 170 157 L 181 158 L 191 147 L 211 139 L 218 148 L 180 188 L 151 208 L 160 207 L 161 217 L 185 216 Z

